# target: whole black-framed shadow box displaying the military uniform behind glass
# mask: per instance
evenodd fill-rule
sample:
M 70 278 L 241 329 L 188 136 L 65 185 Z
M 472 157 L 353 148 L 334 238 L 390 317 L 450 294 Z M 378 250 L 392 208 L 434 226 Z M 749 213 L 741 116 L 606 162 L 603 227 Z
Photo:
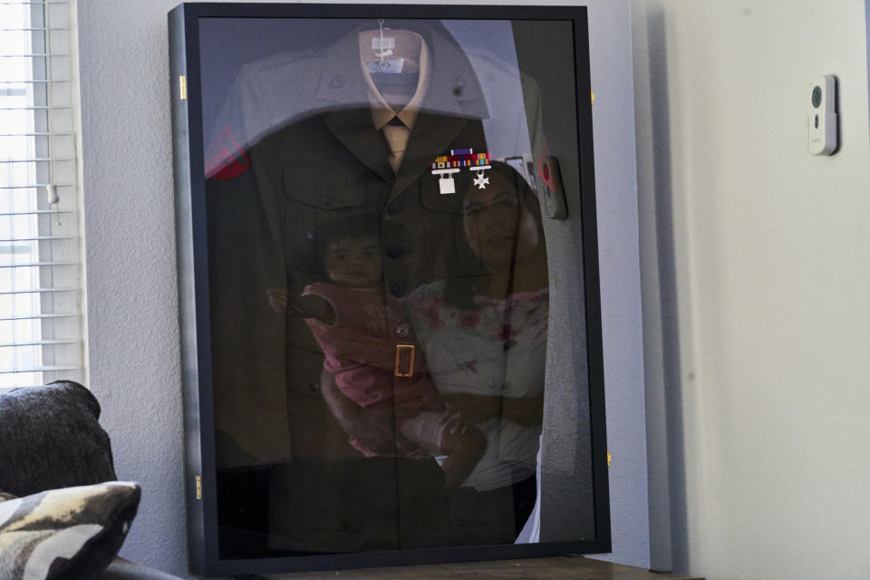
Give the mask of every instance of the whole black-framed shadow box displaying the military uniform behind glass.
M 193 571 L 609 551 L 585 8 L 169 40 Z

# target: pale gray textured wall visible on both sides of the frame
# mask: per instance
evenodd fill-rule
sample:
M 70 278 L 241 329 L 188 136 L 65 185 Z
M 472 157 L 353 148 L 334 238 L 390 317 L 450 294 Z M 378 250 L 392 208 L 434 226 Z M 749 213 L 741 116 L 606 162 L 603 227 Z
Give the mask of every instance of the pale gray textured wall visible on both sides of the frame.
M 91 387 L 142 503 L 122 556 L 187 568 L 166 14 L 79 3 Z M 648 562 L 627 0 L 591 5 L 614 559 Z

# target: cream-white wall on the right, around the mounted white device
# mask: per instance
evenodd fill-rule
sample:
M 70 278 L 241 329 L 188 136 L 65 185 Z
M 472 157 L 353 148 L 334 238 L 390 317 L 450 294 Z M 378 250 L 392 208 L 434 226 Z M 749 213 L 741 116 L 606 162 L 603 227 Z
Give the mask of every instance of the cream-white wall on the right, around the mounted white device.
M 865 2 L 633 17 L 651 480 L 671 482 L 653 563 L 670 529 L 674 567 L 710 580 L 870 577 Z M 820 73 L 832 157 L 806 152 Z

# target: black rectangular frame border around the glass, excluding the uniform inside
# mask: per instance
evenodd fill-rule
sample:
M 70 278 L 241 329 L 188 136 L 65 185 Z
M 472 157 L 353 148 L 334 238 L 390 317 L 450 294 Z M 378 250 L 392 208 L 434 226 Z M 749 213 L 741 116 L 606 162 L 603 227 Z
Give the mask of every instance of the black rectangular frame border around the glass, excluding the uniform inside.
M 569 199 L 580 225 L 588 369 L 589 437 L 594 495 L 594 536 L 580 541 L 461 546 L 323 556 L 222 559 L 218 553 L 213 361 L 208 294 L 208 232 L 203 147 L 203 87 L 199 20 L 202 18 L 402 18 L 563 20 L 574 31 L 576 153 L 580 198 Z M 186 430 L 186 498 L 191 570 L 201 575 L 268 574 L 297 570 L 411 565 L 559 554 L 604 553 L 611 548 L 604 362 L 595 219 L 589 37 L 584 6 L 182 4 L 169 13 L 169 75 L 177 207 L 181 364 Z

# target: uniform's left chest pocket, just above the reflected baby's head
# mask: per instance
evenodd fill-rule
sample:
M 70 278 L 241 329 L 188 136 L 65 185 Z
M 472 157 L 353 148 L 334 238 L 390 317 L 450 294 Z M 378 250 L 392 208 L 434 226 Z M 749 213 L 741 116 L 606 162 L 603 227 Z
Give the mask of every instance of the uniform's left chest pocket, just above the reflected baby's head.
M 282 189 L 290 271 L 323 273 L 328 239 L 341 233 L 347 218 L 373 211 L 364 174 L 339 167 L 287 166 Z

